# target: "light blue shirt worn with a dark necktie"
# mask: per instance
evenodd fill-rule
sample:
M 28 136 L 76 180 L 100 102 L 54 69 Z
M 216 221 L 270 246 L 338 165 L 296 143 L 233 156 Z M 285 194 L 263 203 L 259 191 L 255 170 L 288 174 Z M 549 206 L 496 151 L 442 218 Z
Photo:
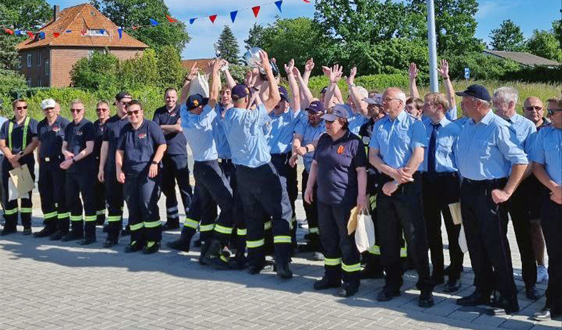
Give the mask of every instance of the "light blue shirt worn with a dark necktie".
M 433 132 L 433 123 L 431 121 L 424 122 L 426 125 L 427 145 L 431 139 L 431 132 Z M 459 125 L 443 117 L 439 122 L 437 130 L 436 144 L 435 144 L 435 168 L 436 172 L 457 172 L 457 162 L 455 160 L 455 144 L 461 132 Z M 427 171 L 427 158 L 429 148 L 425 149 L 424 163 L 422 165 L 423 171 Z

